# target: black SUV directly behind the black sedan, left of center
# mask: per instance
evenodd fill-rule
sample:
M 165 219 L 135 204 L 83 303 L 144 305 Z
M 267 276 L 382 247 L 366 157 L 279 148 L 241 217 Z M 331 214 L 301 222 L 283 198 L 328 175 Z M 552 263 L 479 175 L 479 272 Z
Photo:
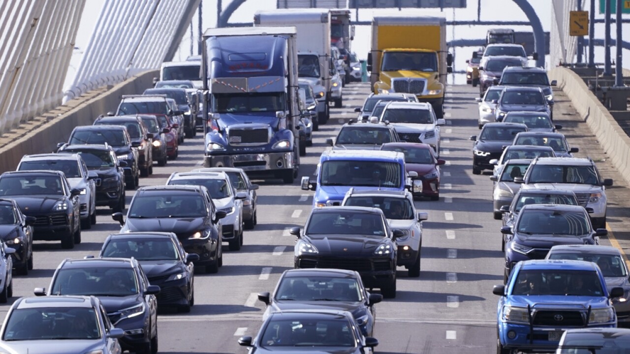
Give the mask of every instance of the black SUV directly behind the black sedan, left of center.
M 223 265 L 222 227 L 219 219 L 226 212 L 217 210 L 204 186 L 149 186 L 135 192 L 127 220 L 122 213 L 112 214 L 123 232 L 175 232 L 188 253 L 196 253 L 195 266 L 216 273 Z

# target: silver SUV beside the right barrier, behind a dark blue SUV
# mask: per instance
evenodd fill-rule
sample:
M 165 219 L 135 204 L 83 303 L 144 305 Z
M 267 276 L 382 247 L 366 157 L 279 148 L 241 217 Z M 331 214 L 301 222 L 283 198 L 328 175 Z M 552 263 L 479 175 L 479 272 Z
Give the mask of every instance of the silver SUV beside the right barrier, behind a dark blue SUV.
M 515 183 L 534 185 L 534 188 L 561 188 L 572 190 L 583 207 L 592 208 L 590 219 L 593 229 L 606 227 L 606 186 L 612 179 L 602 177 L 590 157 L 538 157 L 527 169 L 525 176 Z

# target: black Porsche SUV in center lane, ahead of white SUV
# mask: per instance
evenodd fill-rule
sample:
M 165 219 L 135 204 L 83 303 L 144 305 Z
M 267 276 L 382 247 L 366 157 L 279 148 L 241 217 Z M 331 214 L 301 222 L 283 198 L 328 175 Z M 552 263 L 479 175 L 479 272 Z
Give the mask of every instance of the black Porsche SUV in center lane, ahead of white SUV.
M 356 270 L 368 288 L 381 288 L 383 297 L 396 297 L 396 243 L 379 208 L 326 207 L 313 209 L 297 236 L 295 268 Z

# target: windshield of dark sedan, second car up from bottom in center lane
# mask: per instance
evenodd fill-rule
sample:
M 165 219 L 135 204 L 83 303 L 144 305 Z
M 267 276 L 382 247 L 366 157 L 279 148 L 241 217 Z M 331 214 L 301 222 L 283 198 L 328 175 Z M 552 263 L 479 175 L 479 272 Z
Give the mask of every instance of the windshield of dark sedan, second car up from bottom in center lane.
M 356 279 L 332 277 L 283 277 L 275 293 L 282 300 L 335 300 L 358 302 L 363 299 Z

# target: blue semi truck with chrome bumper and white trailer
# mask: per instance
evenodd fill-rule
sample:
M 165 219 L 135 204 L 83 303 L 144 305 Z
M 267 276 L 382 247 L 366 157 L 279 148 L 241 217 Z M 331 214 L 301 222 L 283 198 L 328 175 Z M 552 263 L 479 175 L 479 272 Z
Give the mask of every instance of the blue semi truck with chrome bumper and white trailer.
M 205 167 L 242 168 L 292 183 L 299 168 L 295 27 L 203 34 Z

